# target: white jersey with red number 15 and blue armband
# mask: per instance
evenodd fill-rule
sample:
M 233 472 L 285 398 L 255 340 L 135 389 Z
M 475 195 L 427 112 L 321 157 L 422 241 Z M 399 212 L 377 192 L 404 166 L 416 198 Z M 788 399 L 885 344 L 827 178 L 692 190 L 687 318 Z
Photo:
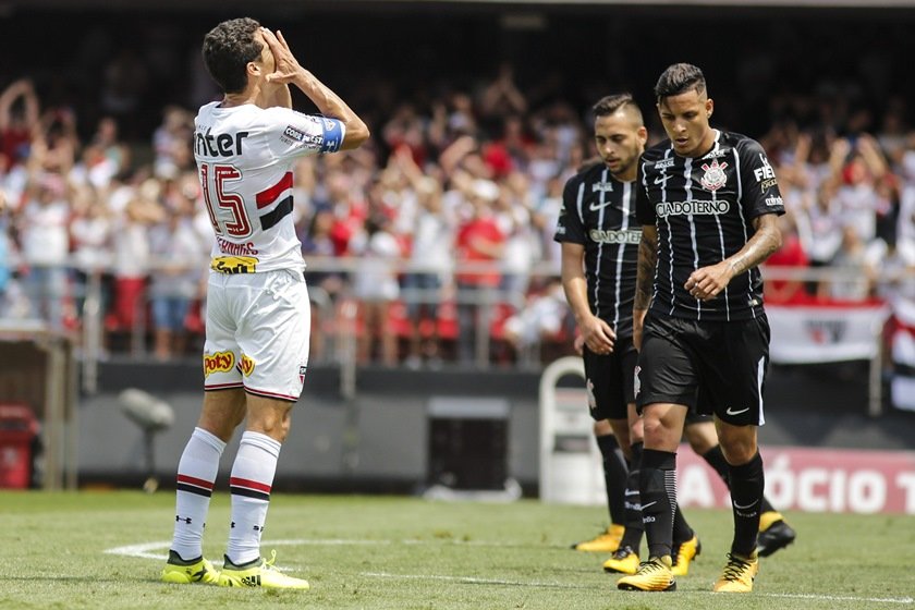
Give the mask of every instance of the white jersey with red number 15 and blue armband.
M 223 272 L 301 270 L 292 221 L 292 169 L 298 157 L 335 152 L 345 135 L 337 119 L 247 103 L 200 108 L 194 158 Z

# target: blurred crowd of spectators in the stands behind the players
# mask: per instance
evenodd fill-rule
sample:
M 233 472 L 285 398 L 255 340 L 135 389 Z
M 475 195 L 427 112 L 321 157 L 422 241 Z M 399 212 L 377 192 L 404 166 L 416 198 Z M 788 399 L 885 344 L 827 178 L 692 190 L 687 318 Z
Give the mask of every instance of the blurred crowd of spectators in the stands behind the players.
M 125 350 L 118 337 L 139 328 L 156 358 L 198 353 L 211 229 L 197 204 L 196 109 L 168 106 L 151 138 L 126 138 L 144 72 L 131 66 L 136 58 L 117 59 L 109 111 L 90 137 L 29 81 L 2 86 L 0 317 L 37 316 L 77 335 L 100 285 L 108 350 Z M 568 352 L 573 325 L 552 234 L 566 179 L 593 157 L 588 108 L 532 103 L 508 64 L 477 88 L 426 97 L 376 117 L 373 145 L 297 168 L 313 357 L 331 357 L 325 342 L 354 330 L 341 322 L 347 310 L 359 362 Z M 789 213 L 769 266 L 837 272 L 772 279 L 768 301 L 915 303 L 915 131 L 902 102 L 882 118 L 802 97 L 778 102 L 784 118 L 759 139 Z M 645 112 L 650 124 L 654 109 Z M 652 141 L 662 134 L 650 131 Z M 143 162 L 138 141 L 151 149 Z

